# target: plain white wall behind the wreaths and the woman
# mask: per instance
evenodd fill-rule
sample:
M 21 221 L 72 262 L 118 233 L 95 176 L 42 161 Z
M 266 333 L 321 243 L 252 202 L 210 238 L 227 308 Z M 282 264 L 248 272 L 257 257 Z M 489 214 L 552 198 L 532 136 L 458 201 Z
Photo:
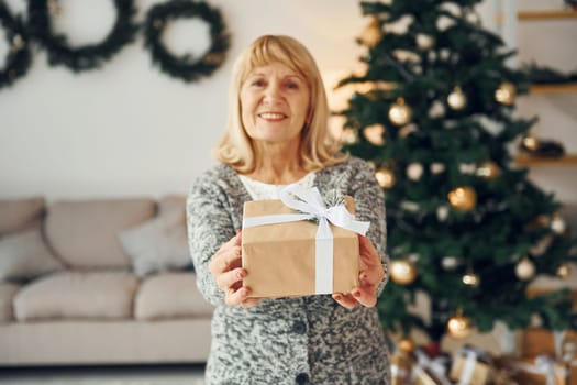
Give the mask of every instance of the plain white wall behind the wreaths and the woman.
M 99 41 L 114 15 L 108 1 L 89 10 L 79 1 L 60 2 L 74 18 L 62 18 L 70 23 L 59 28 L 79 36 L 76 43 Z M 157 2 L 137 0 L 138 19 Z M 185 84 L 153 67 L 141 35 L 101 69 L 78 75 L 48 67 L 45 54 L 35 52 L 27 75 L 0 90 L 0 197 L 186 194 L 192 178 L 213 163 L 210 148 L 224 127 L 233 58 L 262 34 L 302 41 L 328 84 L 359 65 L 363 50 L 354 38 L 368 20 L 358 1 L 208 2 L 221 10 L 232 45 L 224 65 L 199 82 Z M 21 10 L 25 2 L 8 3 Z M 495 24 L 496 3 L 487 1 L 480 10 L 486 25 Z M 178 33 L 186 25 L 197 32 L 186 34 L 191 42 Z M 170 46 L 201 50 L 202 28 L 176 25 Z M 0 38 L 0 57 L 5 50 Z

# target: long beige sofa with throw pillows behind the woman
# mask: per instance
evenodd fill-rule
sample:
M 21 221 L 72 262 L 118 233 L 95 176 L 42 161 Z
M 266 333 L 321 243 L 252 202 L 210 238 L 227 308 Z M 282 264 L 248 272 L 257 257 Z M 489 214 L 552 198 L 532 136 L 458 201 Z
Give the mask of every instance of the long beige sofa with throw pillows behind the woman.
M 185 197 L 0 199 L 0 366 L 206 362 Z

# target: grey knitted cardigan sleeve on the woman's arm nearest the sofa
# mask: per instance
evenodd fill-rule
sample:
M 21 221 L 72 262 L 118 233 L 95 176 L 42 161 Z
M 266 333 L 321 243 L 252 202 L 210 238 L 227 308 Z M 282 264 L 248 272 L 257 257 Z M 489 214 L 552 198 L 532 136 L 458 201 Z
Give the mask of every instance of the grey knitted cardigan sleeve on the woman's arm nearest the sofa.
M 224 304 L 224 292 L 214 282 L 209 262 L 220 246 L 236 233 L 229 199 L 217 180 L 204 175 L 192 184 L 187 197 L 187 229 L 197 286 L 214 306 Z

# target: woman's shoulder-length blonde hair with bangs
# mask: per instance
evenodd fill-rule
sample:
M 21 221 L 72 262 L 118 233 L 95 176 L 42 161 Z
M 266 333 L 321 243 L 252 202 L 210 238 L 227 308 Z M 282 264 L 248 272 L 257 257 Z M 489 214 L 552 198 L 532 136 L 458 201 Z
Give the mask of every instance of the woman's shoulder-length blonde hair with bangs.
M 329 133 L 329 105 L 317 63 L 304 45 L 284 35 L 258 37 L 236 59 L 229 89 L 229 121 L 214 157 L 242 174 L 255 169 L 258 161 L 256 146 L 242 122 L 240 91 L 254 68 L 270 63 L 281 63 L 297 72 L 310 88 L 311 102 L 301 131 L 301 166 L 306 170 L 315 170 L 343 162 L 346 155 L 337 154 L 339 143 Z

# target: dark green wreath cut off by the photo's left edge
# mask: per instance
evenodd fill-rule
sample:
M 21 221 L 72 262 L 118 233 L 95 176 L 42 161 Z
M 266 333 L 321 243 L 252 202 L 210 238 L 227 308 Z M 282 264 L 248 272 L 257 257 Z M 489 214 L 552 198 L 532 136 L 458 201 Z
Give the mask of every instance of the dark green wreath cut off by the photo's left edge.
M 0 0 L 0 24 L 5 30 L 10 51 L 4 68 L 0 68 L 0 88 L 11 86 L 19 77 L 24 76 L 32 63 L 29 36 L 24 23 L 19 16 L 12 16 L 8 7 Z

